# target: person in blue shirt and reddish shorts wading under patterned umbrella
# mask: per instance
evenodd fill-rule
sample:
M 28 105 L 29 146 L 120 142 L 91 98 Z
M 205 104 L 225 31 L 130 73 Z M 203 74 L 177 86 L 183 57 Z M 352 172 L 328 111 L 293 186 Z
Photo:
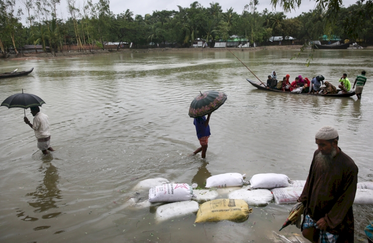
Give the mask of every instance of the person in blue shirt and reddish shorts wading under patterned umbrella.
M 195 131 L 197 132 L 197 138 L 199 140 L 199 144 L 201 145 L 201 147 L 199 147 L 196 151 L 193 152 L 193 155 L 196 155 L 202 151 L 202 158 L 206 158 L 208 138 L 211 135 L 210 126 L 208 125 L 208 122 L 210 121 L 210 115 L 211 113 L 207 115 L 207 119 L 206 116 L 202 116 L 194 118 L 193 121 Z

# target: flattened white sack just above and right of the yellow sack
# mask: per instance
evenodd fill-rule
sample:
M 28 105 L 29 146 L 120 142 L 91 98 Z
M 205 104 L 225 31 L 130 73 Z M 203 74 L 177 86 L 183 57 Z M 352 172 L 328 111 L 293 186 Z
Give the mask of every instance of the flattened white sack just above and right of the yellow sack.
M 267 206 L 273 199 L 273 194 L 268 189 L 239 189 L 228 194 L 229 199 L 242 199 L 251 206 Z

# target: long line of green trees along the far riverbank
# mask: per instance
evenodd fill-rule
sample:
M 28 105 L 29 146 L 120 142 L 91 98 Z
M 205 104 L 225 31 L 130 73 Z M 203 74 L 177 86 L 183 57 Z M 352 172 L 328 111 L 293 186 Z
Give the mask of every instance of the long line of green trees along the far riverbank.
M 105 42 L 133 43 L 134 47 L 172 44 L 190 47 L 197 38 L 209 47 L 215 41 L 236 35 L 251 43 L 265 44 L 271 36 L 291 36 L 301 43 L 318 40 L 320 36 L 336 35 L 344 39 L 373 43 L 373 0 L 359 0 L 348 7 L 338 1 L 321 0 L 313 10 L 287 18 L 284 12 L 267 8 L 257 11 L 259 0 L 250 0 L 241 14 L 231 7 L 224 11 L 218 2 L 203 7 L 194 1 L 178 10 L 153 11 L 134 15 L 127 9 L 113 14 L 109 0 L 77 2 L 66 0 L 68 19 L 58 18 L 60 0 L 19 0 L 23 8 L 16 9 L 15 0 L 0 0 L 0 50 L 18 53 L 24 45 L 49 46 L 54 52 L 63 46 L 78 45 L 103 48 Z M 325 5 L 324 3 L 329 3 Z M 281 0 L 280 3 L 291 3 Z M 334 2 L 334 3 L 333 3 Z M 276 5 L 277 0 L 272 0 Z M 300 0 L 299 0 L 300 3 Z M 333 5 L 334 4 L 334 5 Z M 80 6 L 80 7 L 78 7 Z M 291 6 L 291 5 L 290 5 Z M 288 5 L 284 4 L 286 10 Z M 20 20 L 25 15 L 27 24 Z

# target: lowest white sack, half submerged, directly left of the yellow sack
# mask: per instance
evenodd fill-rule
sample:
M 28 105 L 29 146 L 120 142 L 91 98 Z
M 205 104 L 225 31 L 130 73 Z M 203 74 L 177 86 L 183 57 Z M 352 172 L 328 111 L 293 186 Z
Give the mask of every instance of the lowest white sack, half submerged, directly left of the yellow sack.
M 197 212 L 198 209 L 199 205 L 195 201 L 184 201 L 164 204 L 157 208 L 156 220 L 163 221 L 178 216 L 185 216 Z

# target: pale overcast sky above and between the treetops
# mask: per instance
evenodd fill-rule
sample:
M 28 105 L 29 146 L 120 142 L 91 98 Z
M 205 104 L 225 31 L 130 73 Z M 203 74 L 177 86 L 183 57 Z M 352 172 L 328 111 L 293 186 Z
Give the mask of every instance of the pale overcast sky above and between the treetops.
M 19 2 L 19 0 L 17 0 Z M 81 8 L 83 6 L 84 0 L 76 0 L 77 7 Z M 351 4 L 356 3 L 357 0 L 342 0 L 345 7 L 348 7 Z M 93 2 L 98 2 L 98 0 L 93 0 Z M 114 14 L 125 12 L 128 8 L 130 11 L 136 14 L 144 16 L 147 13 L 152 14 L 156 10 L 178 10 L 178 5 L 182 7 L 189 7 L 190 3 L 193 0 L 110 0 L 110 10 Z M 209 7 L 211 0 L 199 0 L 198 1 L 203 7 Z M 250 0 L 217 0 L 222 7 L 223 11 L 226 12 L 228 8 L 233 7 L 233 10 L 238 14 L 242 13 L 244 6 L 250 3 Z M 303 0 L 300 8 L 292 10 L 291 12 L 285 13 L 287 17 L 295 17 L 301 14 L 302 12 L 308 12 L 308 10 L 315 7 L 315 1 Z M 57 7 L 58 17 L 67 19 L 67 3 L 66 0 L 61 0 L 60 6 Z M 280 6 L 277 6 L 276 9 L 272 8 L 271 0 L 259 0 L 259 5 L 257 5 L 258 11 L 261 12 L 265 8 L 268 8 L 270 11 L 283 11 Z M 23 10 L 26 14 L 26 10 Z M 26 16 L 22 16 L 22 23 L 25 23 Z

